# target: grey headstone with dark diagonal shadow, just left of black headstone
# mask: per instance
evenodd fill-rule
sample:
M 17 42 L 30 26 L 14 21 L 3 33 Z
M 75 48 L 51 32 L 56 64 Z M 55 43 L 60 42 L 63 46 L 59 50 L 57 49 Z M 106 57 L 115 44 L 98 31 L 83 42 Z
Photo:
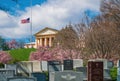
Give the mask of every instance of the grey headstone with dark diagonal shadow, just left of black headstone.
M 54 72 L 54 71 L 61 71 L 62 66 L 60 61 L 48 61 L 48 71 Z

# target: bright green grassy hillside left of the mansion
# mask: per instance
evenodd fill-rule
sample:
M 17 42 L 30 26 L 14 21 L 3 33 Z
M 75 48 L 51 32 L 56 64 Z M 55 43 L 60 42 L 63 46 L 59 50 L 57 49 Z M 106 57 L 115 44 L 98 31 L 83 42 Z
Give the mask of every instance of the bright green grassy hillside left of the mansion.
M 16 60 L 27 61 L 27 60 L 29 60 L 30 53 L 35 51 L 35 50 L 36 49 L 34 49 L 34 48 L 14 49 L 14 50 L 10 50 L 9 53 Z

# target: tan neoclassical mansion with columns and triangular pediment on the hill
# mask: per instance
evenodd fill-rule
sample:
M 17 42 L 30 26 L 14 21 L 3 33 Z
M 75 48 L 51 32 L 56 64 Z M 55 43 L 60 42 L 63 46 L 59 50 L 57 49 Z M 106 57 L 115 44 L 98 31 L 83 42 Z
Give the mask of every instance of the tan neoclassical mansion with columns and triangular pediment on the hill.
M 51 47 L 53 45 L 53 40 L 58 30 L 52 28 L 44 28 L 37 32 L 35 35 L 35 42 L 26 43 L 25 48 L 38 48 L 38 47 Z

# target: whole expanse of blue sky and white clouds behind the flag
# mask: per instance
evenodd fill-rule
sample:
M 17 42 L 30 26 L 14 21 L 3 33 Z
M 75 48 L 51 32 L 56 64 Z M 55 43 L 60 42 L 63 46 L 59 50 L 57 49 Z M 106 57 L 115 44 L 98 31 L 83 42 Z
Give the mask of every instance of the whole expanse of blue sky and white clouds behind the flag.
M 45 27 L 61 29 L 69 22 L 79 23 L 84 12 L 91 17 L 99 13 L 100 0 L 0 0 L 0 36 L 3 38 L 28 38 L 30 24 L 21 20 L 31 17 L 33 34 Z

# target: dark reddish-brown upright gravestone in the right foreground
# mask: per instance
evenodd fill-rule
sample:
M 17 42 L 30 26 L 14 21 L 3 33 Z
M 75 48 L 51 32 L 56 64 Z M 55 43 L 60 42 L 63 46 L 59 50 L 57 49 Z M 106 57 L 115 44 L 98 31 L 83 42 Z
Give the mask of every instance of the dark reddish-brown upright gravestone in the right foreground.
M 87 81 L 103 81 L 103 62 L 88 61 L 88 80 Z

